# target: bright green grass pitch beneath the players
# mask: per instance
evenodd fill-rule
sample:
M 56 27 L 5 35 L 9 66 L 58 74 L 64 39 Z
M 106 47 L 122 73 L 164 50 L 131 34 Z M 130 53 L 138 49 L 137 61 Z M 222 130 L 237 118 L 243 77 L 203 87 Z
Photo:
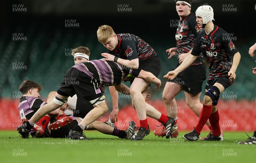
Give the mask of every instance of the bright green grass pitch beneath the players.
M 142 141 L 85 132 L 92 141 L 68 138 L 22 139 L 17 131 L 0 131 L 1 163 L 252 163 L 256 145 L 242 145 L 244 132 L 224 132 L 223 142 L 189 142 L 158 138 L 153 131 Z M 253 133 L 248 132 L 251 136 Z M 202 136 L 207 132 L 202 132 Z

